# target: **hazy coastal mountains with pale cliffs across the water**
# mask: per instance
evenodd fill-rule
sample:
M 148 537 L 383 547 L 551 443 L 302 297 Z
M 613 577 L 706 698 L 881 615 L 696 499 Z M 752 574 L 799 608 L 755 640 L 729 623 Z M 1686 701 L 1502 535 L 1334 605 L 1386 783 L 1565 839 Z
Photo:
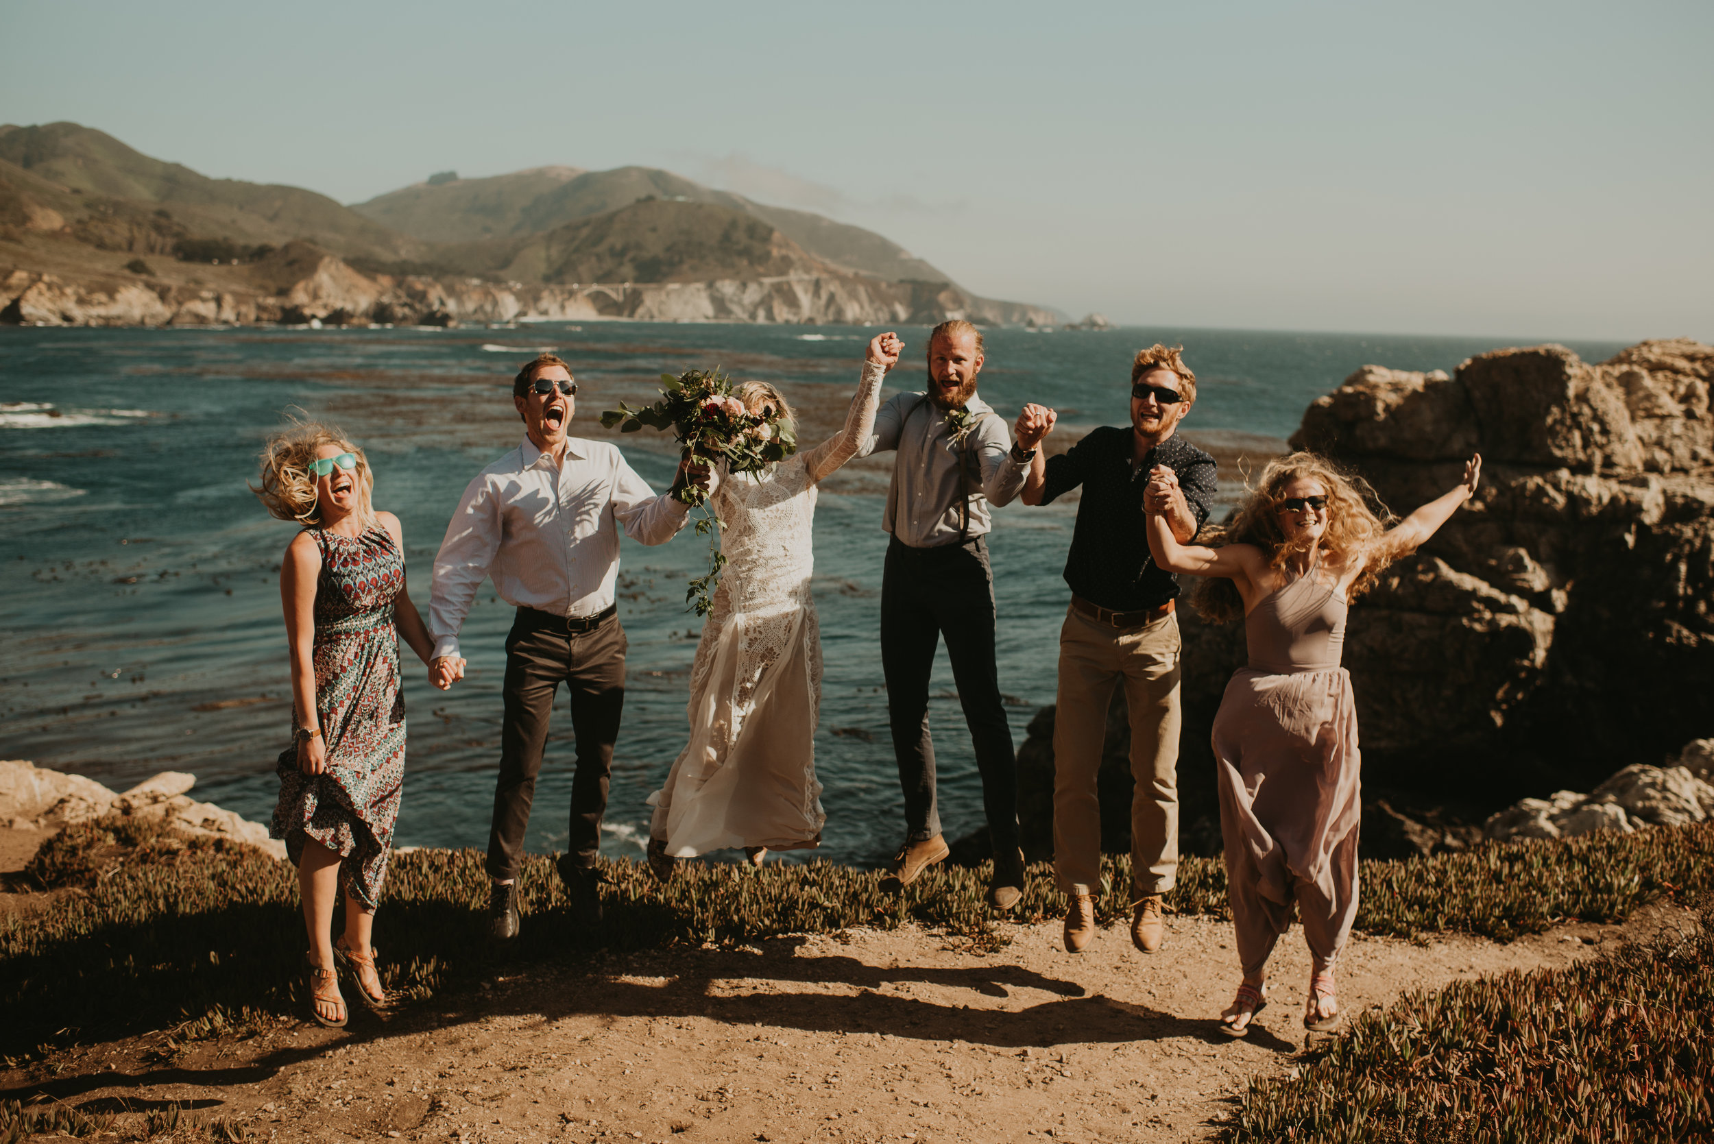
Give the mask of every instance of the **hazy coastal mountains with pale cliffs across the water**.
M 653 168 L 447 171 L 345 207 L 77 123 L 0 125 L 0 322 L 1051 325 L 886 238 Z

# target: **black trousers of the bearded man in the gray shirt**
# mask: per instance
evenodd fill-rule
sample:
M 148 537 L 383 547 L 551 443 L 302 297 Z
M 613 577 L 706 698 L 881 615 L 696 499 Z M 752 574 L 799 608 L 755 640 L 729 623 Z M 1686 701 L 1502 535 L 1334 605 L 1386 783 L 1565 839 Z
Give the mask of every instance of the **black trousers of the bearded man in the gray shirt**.
M 994 666 L 994 574 L 987 545 L 979 536 L 962 545 L 912 548 L 895 538 L 886 548 L 881 581 L 881 670 L 912 843 L 941 832 L 929 738 L 929 673 L 941 635 L 975 745 L 994 853 L 1015 851 L 1018 769 Z

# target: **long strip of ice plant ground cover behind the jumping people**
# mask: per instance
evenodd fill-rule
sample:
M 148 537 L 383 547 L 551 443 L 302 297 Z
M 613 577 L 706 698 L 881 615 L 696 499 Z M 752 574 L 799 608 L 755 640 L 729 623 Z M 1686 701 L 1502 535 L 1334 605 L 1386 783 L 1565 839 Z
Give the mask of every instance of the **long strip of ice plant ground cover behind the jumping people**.
M 1109 885 L 1130 884 L 1124 856 L 1104 865 Z M 552 856 L 528 856 L 519 879 L 524 928 L 506 957 L 566 961 L 596 945 L 732 947 L 912 921 L 999 956 L 1006 944 L 984 903 L 982 867 L 938 868 L 903 894 L 883 892 L 879 870 L 823 863 L 761 870 L 684 863 L 665 885 L 639 861 L 602 868 L 607 925 L 591 938 L 571 918 Z M 39 913 L 0 921 L 7 1014 L 0 1055 L 168 1028 L 206 1036 L 298 1010 L 303 930 L 290 863 L 115 817 L 48 839 L 29 875 L 65 892 Z M 1508 940 L 1565 920 L 1611 923 L 1663 897 L 1693 901 L 1714 891 L 1714 824 L 1489 843 L 1460 855 L 1364 863 L 1361 877 L 1359 930 L 1395 937 L 1459 930 Z M 399 961 L 382 961 L 387 988 L 410 1002 L 492 974 L 487 897 L 478 851 L 396 855 L 381 911 L 381 945 L 399 950 Z M 1181 860 L 1167 906 L 1224 915 L 1220 861 Z M 1030 868 L 1010 918 L 1051 921 L 1064 908 L 1042 863 Z M 1123 889 L 1097 901 L 1097 916 L 1104 925 L 1130 918 Z

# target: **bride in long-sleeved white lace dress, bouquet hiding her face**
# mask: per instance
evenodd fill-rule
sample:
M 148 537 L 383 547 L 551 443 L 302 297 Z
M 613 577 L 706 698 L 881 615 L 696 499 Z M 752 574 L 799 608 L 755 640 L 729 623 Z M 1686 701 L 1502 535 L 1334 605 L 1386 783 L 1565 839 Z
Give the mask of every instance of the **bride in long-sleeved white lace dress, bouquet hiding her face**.
M 896 334 L 869 343 L 843 430 L 771 471 L 711 478 L 727 565 L 691 668 L 691 742 L 648 798 L 650 865 L 660 877 L 675 858 L 711 849 L 742 846 L 759 863 L 768 849 L 821 844 L 821 630 L 809 596 L 809 526 L 818 485 L 874 430 L 881 378 L 902 349 Z M 752 413 L 771 404 L 788 414 L 766 382 L 749 382 L 737 396 Z

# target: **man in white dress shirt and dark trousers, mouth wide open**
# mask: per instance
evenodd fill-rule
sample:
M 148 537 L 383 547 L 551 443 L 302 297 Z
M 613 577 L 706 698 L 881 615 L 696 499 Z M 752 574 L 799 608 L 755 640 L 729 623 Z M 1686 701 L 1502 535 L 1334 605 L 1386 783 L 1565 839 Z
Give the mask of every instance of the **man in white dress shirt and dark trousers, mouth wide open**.
M 626 632 L 614 603 L 619 526 L 634 541 L 663 545 L 689 512 L 670 493 L 656 497 L 617 447 L 566 435 L 576 392 L 571 368 L 554 355 L 518 372 L 512 404 L 524 442 L 470 483 L 434 562 L 428 676 L 435 685 L 464 675 L 458 634 L 483 579 L 492 575 L 500 598 L 518 608 L 506 637 L 506 723 L 488 832 L 488 923 L 497 940 L 518 935 L 514 884 L 560 683 L 571 692 L 578 762 L 559 873 L 578 920 L 586 927 L 602 920 L 595 855 L 626 702 Z M 674 486 L 686 476 L 680 464 Z M 706 481 L 701 471 L 689 476 Z

